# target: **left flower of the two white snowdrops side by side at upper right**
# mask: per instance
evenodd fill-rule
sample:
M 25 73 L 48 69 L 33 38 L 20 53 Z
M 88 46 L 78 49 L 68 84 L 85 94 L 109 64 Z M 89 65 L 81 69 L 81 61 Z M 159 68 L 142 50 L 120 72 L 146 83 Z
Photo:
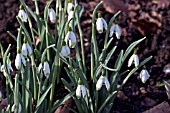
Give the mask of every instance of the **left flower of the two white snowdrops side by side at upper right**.
M 103 28 L 107 30 L 107 23 L 106 21 L 102 18 L 101 13 L 98 13 L 98 19 L 96 21 L 96 29 L 99 33 L 103 32 Z

